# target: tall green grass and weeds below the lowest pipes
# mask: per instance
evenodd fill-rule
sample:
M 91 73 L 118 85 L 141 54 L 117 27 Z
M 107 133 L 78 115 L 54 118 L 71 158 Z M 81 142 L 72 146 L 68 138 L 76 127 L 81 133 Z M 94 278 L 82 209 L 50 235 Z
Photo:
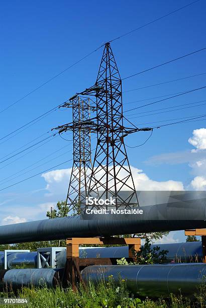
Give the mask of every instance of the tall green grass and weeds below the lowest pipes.
M 181 293 L 179 296 L 170 296 L 170 299 L 149 298 L 140 299 L 131 295 L 126 287 L 125 280 L 120 281 L 117 286 L 112 277 L 108 282 L 99 282 L 97 286 L 89 283 L 84 289 L 79 286 L 78 291 L 74 292 L 71 288 L 62 289 L 60 286 L 56 288 L 23 288 L 18 292 L 1 292 L 1 297 L 21 297 L 29 298 L 29 304 L 4 304 L 1 307 L 74 307 L 74 308 L 203 308 L 205 307 L 205 286 L 202 285 L 195 300 L 183 298 Z

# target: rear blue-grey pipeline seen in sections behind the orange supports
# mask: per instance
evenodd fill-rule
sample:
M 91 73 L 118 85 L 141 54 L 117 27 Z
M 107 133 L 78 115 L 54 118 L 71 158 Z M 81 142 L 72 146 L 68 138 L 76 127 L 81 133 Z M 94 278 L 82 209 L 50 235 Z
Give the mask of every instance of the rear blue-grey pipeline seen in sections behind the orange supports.
M 172 243 L 152 245 L 160 250 L 168 250 L 165 263 L 170 262 L 201 262 L 201 242 Z M 80 247 L 80 258 L 128 258 L 128 246 L 117 247 Z M 4 252 L 0 252 L 0 269 L 4 269 Z M 56 268 L 63 268 L 66 263 L 66 250 L 56 254 Z M 24 268 L 37 268 L 37 252 L 11 252 L 7 254 L 7 268 L 24 266 Z

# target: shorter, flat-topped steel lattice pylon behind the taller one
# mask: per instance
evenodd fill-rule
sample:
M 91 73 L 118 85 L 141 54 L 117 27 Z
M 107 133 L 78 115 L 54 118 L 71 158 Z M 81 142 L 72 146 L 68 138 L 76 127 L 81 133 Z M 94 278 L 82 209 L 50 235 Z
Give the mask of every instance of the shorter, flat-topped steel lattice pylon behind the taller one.
M 67 130 L 73 132 L 73 166 L 66 197 L 69 211 L 80 212 L 82 199 L 88 193 L 88 183 L 91 176 L 91 121 L 90 99 L 75 96 L 61 107 L 72 108 L 73 122 L 58 126 L 59 133 Z

